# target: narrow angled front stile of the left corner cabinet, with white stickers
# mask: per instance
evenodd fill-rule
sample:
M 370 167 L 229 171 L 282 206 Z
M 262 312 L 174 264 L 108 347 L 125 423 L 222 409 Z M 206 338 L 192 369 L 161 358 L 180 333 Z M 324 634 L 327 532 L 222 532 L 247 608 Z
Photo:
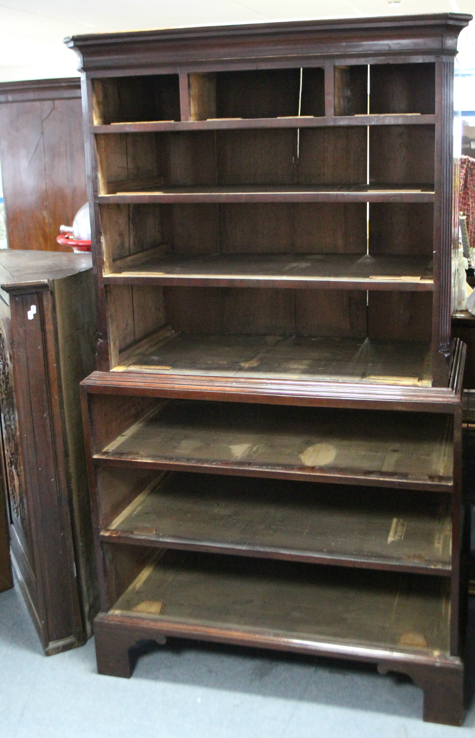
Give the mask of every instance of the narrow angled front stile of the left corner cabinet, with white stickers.
M 59 407 L 58 356 L 52 325 L 52 296 L 22 296 L 24 347 L 26 351 L 29 407 L 24 416 L 30 444 L 35 449 L 35 464 L 27 466 L 33 482 L 38 541 L 38 570 L 41 568 L 41 598 L 47 630 L 45 647 L 54 649 L 64 641 L 77 645 L 84 639 L 75 579 L 71 519 L 65 477 L 64 427 Z M 36 311 L 27 317 L 31 306 Z M 30 313 L 31 315 L 31 313 Z M 39 583 L 38 583 L 39 584 Z

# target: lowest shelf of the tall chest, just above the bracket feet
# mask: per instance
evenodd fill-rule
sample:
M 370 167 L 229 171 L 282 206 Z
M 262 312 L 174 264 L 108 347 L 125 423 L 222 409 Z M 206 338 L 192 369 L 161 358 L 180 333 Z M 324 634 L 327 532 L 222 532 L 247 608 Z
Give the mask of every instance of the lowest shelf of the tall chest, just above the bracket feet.
M 308 641 L 448 654 L 446 579 L 165 551 L 111 614 Z M 178 633 L 177 633 L 178 635 Z

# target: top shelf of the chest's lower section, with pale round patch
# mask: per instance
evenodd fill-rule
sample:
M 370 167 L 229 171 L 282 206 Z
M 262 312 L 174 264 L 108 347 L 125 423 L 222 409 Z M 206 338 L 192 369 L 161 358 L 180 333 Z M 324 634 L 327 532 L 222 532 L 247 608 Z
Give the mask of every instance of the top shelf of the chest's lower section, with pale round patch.
M 452 491 L 448 415 L 172 400 L 96 464 Z

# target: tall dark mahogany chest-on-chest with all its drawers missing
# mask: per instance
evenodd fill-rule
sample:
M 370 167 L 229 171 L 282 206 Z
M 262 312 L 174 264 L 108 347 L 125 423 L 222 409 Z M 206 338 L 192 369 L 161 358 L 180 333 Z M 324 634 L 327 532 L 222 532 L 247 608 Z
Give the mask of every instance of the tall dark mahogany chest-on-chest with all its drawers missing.
M 172 635 L 355 658 L 461 723 L 469 18 L 67 41 L 99 306 L 82 397 L 100 673 Z

